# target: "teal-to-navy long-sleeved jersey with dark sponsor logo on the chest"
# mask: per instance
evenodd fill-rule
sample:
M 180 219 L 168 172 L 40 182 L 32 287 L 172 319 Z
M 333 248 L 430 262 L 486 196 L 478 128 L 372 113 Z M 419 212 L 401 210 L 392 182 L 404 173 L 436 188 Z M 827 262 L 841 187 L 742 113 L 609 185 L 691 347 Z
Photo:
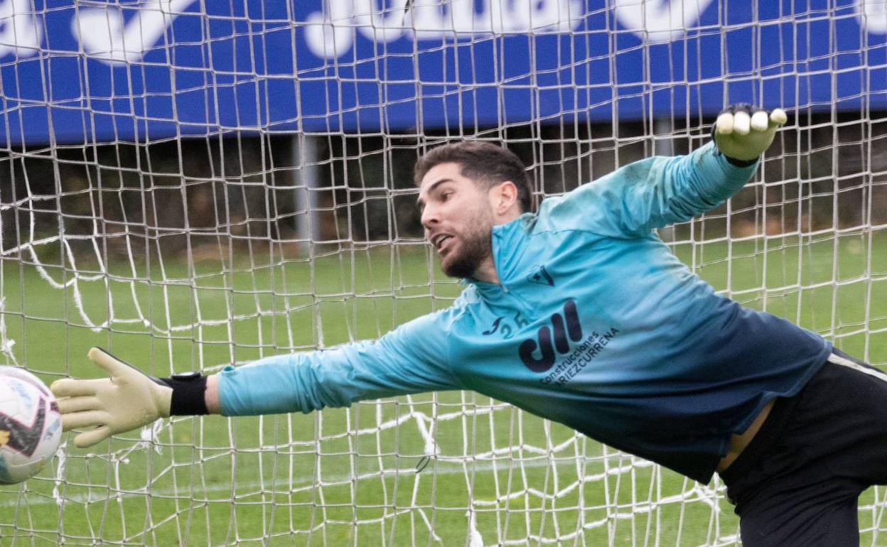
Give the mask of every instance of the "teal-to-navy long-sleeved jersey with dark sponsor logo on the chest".
M 708 482 L 730 435 L 795 395 L 831 351 L 742 308 L 654 229 L 742 188 L 712 144 L 634 162 L 492 230 L 500 284 L 467 279 L 447 309 L 375 341 L 226 367 L 226 416 L 472 389 Z

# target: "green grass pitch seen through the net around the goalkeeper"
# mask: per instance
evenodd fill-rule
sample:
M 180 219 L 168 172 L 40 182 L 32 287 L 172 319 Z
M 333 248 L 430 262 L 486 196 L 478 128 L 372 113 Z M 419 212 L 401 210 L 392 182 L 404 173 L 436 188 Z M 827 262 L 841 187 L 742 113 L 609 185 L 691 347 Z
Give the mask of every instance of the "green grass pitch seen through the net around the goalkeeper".
M 675 251 L 735 300 L 887 364 L 887 233 Z M 7 351 L 47 383 L 98 376 L 85 357 L 94 345 L 157 375 L 217 370 L 376 338 L 459 292 L 422 246 L 310 262 L 267 249 L 241 256 L 189 266 L 154 255 L 107 275 L 58 248 L 40 250 L 43 271 L 31 258 L 4 259 L 2 341 L 14 340 Z M 423 461 L 429 439 L 438 454 Z M 156 443 L 138 440 L 70 444 L 59 481 L 51 467 L 0 487 L 0 546 L 462 545 L 472 530 L 484 544 L 714 545 L 733 544 L 737 527 L 716 484 L 702 488 L 473 393 L 310 416 L 177 418 Z M 887 543 L 876 534 L 881 498 L 863 498 L 866 544 Z

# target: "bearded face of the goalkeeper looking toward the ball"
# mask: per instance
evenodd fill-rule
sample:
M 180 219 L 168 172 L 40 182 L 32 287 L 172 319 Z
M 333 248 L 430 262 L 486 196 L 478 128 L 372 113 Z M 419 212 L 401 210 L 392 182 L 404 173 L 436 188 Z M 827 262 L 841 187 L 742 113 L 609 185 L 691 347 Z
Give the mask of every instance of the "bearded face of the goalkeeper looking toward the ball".
M 488 192 L 461 175 L 456 163 L 441 163 L 422 178 L 419 207 L 425 237 L 441 270 L 468 277 L 491 256 L 493 215 Z

